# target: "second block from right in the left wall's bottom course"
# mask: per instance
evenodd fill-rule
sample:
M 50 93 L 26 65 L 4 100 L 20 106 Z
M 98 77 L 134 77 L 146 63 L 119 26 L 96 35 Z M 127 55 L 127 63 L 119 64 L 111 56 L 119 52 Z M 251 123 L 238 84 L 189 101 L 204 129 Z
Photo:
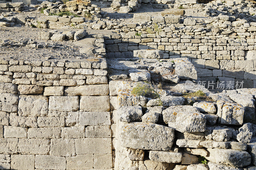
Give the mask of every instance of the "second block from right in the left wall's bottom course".
M 93 168 L 93 154 L 76 155 L 66 157 L 67 170 Z

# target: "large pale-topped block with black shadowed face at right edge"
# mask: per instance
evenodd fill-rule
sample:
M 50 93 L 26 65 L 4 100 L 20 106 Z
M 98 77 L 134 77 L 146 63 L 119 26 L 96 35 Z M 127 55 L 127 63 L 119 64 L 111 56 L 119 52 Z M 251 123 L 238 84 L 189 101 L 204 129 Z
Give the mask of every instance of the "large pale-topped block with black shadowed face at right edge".
M 229 94 L 229 98 L 244 107 L 244 122 L 255 123 L 255 99 L 251 94 Z

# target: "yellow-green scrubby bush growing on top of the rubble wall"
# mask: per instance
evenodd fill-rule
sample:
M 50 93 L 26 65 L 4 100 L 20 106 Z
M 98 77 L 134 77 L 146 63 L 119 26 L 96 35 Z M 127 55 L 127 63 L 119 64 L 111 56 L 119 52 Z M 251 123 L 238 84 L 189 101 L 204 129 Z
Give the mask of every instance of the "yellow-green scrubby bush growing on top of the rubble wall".
M 146 96 L 156 99 L 159 106 L 163 106 L 163 102 L 160 99 L 161 95 L 156 91 L 157 86 L 151 82 L 138 83 L 133 89 L 132 94 L 135 96 Z

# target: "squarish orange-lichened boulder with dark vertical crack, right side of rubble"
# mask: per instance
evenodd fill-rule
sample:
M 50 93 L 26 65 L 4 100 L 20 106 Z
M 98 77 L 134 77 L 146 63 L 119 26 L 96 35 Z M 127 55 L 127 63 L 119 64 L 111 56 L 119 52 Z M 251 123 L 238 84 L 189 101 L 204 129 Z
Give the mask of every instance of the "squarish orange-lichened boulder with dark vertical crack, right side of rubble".
M 219 116 L 218 122 L 221 124 L 242 125 L 244 119 L 244 107 L 237 103 L 217 101 Z

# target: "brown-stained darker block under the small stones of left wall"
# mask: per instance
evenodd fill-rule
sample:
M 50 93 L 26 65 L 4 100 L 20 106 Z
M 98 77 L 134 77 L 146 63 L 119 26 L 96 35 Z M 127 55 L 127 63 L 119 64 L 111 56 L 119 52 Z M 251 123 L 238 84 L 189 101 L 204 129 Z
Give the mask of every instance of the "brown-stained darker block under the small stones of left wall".
M 18 94 L 40 94 L 43 93 L 43 86 L 18 85 Z

